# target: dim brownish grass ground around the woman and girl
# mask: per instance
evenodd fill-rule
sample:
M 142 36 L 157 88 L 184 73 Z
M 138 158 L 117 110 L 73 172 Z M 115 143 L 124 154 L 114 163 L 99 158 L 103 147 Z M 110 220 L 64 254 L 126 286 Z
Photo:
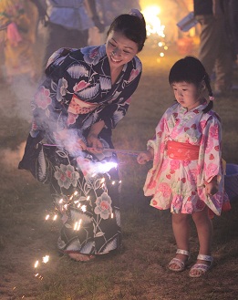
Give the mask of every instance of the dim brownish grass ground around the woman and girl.
M 158 62 L 145 49 L 140 55 L 144 73 L 128 115 L 114 130 L 115 147 L 144 150 L 155 126 L 173 97 L 168 72 L 179 55 L 169 53 Z M 238 81 L 237 71 L 235 80 Z M 9 94 L 4 86 L 1 92 Z M 237 95 L 219 98 L 215 110 L 222 117 L 223 157 L 238 163 Z M 171 274 L 167 264 L 176 251 L 171 213 L 150 207 L 143 196 L 143 183 L 150 164 L 140 166 L 134 157 L 119 155 L 122 179 L 121 222 L 123 247 L 119 253 L 80 264 L 57 253 L 60 222 L 45 222 L 52 210 L 48 187 L 30 174 L 17 170 L 29 123 L 23 114 L 11 114 L 18 99 L 0 111 L 0 298 L 3 300 L 230 300 L 237 299 L 237 211 L 214 218 L 215 258 L 212 271 L 199 280 L 188 272 Z M 3 104 L 4 106 L 4 104 Z M 25 103 L 26 106 L 26 103 Z M 191 223 L 191 264 L 198 251 L 197 234 Z M 48 264 L 41 257 L 49 254 Z M 40 265 L 35 270 L 34 264 Z M 37 276 L 36 272 L 39 274 Z M 42 276 L 42 277 L 40 277 Z

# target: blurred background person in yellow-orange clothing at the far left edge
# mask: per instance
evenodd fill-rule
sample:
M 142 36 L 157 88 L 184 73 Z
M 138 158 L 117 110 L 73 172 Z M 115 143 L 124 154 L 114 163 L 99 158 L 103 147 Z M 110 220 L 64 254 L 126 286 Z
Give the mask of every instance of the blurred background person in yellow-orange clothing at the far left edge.
M 32 1 L 0 1 L 0 27 L 3 28 L 1 60 L 4 59 L 5 76 L 9 83 L 18 75 L 36 76 L 34 46 L 37 18 L 37 8 Z

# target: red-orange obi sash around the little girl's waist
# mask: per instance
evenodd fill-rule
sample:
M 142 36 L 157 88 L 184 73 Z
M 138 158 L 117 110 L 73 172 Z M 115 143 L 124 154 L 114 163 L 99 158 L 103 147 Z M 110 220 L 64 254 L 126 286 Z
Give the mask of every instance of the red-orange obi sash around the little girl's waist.
M 198 160 L 200 146 L 169 140 L 167 155 L 173 160 Z

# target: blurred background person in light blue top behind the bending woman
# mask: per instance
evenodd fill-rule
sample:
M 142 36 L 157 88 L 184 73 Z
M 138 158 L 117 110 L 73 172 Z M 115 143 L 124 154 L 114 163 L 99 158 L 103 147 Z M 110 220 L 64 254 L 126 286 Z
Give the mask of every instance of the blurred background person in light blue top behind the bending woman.
M 88 46 L 88 29 L 104 26 L 99 21 L 95 0 L 47 0 L 47 37 L 43 68 L 47 60 L 60 47 Z

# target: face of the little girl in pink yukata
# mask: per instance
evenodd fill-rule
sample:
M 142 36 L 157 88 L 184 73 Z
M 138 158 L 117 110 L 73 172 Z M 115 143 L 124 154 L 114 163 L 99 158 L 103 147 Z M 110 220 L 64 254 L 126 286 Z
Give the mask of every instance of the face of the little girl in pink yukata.
M 198 88 L 193 83 L 185 81 L 174 82 L 171 84 L 171 88 L 173 89 L 176 100 L 183 108 L 188 109 L 188 111 L 195 109 L 204 101 L 202 88 Z

